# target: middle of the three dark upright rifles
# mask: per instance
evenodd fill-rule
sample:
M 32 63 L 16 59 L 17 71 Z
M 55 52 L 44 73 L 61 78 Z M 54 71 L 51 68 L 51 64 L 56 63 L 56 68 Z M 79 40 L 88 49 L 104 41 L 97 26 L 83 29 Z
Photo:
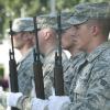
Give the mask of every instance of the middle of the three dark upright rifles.
M 36 16 L 33 18 L 33 21 L 34 21 L 34 31 L 36 40 L 36 51 L 34 50 L 34 63 L 33 63 L 35 92 L 37 98 L 45 99 L 42 62 L 40 59 L 40 50 L 38 50 Z

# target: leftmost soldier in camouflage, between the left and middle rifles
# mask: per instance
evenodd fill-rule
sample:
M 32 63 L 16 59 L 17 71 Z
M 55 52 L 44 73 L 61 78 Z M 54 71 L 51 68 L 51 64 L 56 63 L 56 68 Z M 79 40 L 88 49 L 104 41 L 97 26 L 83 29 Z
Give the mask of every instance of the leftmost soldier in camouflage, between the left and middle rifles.
M 19 91 L 31 96 L 33 74 L 34 26 L 33 18 L 18 18 L 12 24 L 13 45 L 22 58 L 18 63 Z

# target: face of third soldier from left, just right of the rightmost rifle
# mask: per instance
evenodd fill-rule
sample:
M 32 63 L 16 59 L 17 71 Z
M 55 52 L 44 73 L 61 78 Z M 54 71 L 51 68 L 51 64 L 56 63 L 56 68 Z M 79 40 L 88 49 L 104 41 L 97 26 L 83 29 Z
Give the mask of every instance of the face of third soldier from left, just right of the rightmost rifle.
M 70 50 L 75 46 L 75 35 L 76 35 L 76 28 L 72 26 L 67 30 L 63 31 L 62 34 L 62 46 L 65 50 Z

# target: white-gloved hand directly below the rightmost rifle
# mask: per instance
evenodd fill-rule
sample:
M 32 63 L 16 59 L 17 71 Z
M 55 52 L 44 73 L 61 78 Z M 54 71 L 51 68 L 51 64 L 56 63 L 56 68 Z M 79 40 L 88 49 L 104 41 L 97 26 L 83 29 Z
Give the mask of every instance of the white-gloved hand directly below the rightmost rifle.
M 48 110 L 61 110 L 63 105 L 70 102 L 67 96 L 51 96 L 48 99 Z

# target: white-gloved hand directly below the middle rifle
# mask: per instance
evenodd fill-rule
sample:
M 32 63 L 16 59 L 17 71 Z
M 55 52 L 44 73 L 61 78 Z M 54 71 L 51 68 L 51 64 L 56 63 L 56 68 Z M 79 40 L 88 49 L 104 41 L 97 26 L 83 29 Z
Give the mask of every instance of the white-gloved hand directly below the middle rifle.
M 31 110 L 45 110 L 45 108 L 47 108 L 47 105 L 48 105 L 48 100 L 32 98 Z

